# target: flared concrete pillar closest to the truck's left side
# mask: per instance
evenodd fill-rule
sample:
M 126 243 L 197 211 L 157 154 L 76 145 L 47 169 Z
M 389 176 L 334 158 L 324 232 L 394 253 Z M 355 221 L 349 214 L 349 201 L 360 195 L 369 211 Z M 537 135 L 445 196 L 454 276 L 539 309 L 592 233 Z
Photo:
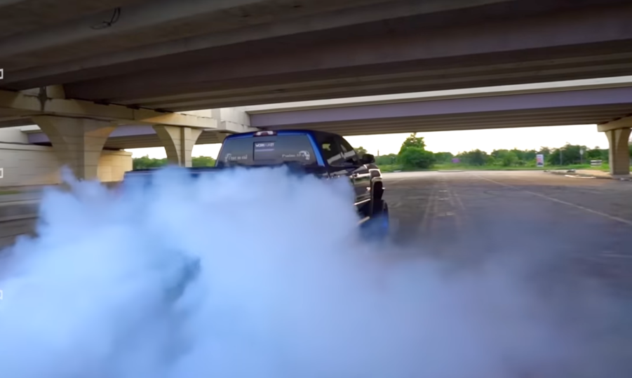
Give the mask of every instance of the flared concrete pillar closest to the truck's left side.
M 202 129 L 156 125 L 154 130 L 165 147 L 170 163 L 181 167 L 192 166 L 191 151 L 193 151 L 193 146 L 201 135 Z

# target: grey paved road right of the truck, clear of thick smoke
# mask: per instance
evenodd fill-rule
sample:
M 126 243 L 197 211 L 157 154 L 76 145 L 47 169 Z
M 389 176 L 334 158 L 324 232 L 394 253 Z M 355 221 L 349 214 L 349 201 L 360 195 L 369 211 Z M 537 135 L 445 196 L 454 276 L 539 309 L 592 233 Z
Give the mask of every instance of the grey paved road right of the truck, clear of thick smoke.
M 530 171 L 385 180 L 400 245 L 461 262 L 539 258 L 551 273 L 543 279 L 589 276 L 632 294 L 632 182 Z

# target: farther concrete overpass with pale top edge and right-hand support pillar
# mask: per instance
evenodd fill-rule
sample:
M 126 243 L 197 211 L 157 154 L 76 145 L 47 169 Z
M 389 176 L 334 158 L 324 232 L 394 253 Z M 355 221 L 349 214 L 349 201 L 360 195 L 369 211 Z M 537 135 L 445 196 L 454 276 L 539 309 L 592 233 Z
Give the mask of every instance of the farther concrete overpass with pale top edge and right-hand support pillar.
M 627 174 L 629 169 L 626 156 L 632 127 L 632 76 L 292 102 L 215 112 L 245 128 L 316 129 L 342 135 L 600 124 L 598 128 L 610 140 L 612 173 L 618 175 Z M 29 133 L 30 143 L 50 142 L 36 126 L 23 131 Z M 220 142 L 214 135 L 217 133 L 202 133 L 197 143 Z M 105 142 L 109 149 L 161 145 L 156 130 L 143 125 L 119 126 Z M 621 163 L 617 163 L 619 155 Z

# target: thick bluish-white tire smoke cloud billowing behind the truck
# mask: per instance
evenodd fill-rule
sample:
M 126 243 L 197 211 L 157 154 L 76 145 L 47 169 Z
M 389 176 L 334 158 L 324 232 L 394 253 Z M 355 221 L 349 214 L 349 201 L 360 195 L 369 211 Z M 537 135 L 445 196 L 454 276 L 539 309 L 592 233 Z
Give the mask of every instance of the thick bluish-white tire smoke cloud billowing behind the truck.
M 39 238 L 4 252 L 2 377 L 624 371 L 578 332 L 603 325 L 593 305 L 610 302 L 586 302 L 599 321 L 565 327 L 506 264 L 454 271 L 362 243 L 343 181 L 163 170 L 123 191 L 72 186 L 44 197 Z

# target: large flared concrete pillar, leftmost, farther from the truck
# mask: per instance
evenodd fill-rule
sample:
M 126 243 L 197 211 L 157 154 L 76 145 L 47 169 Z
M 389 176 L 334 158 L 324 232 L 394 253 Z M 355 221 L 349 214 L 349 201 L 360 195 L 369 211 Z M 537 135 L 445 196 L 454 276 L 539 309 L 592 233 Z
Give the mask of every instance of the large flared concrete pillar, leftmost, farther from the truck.
M 60 116 L 35 116 L 33 121 L 51 140 L 60 163 L 71 168 L 77 179 L 98 178 L 99 158 L 114 123 Z

